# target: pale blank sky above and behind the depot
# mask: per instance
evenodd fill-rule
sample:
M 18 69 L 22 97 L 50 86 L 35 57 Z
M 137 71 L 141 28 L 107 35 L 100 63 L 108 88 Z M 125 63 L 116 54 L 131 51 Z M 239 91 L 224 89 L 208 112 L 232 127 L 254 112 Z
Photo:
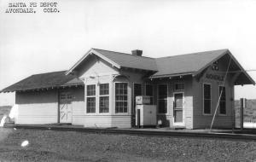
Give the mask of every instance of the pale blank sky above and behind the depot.
M 230 49 L 244 69 L 256 69 L 253 0 L 48 0 L 60 12 L 35 14 L 5 13 L 9 2 L 20 1 L 0 0 L 0 90 L 67 70 L 90 48 L 143 49 L 149 57 Z M 256 87 L 236 86 L 241 97 L 256 99 Z M 0 105 L 14 102 L 14 93 L 0 94 Z

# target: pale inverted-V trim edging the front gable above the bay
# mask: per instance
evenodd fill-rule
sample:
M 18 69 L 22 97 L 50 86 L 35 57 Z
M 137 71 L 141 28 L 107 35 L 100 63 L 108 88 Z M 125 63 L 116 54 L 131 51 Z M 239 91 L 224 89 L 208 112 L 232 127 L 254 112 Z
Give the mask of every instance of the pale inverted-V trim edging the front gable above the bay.
M 114 61 L 111 61 L 110 59 L 108 59 L 106 56 L 100 54 L 99 52 L 97 52 L 94 49 L 90 49 L 79 61 L 77 61 L 73 67 L 71 67 L 67 72 L 66 75 L 70 74 L 71 72 L 73 72 L 73 70 L 76 67 L 79 67 L 79 65 L 82 63 L 82 61 L 84 61 L 89 55 L 97 55 L 98 57 L 102 58 L 102 60 L 107 61 L 108 63 L 110 63 L 113 67 L 117 67 L 117 68 L 121 68 L 121 66 L 117 63 L 115 63 Z

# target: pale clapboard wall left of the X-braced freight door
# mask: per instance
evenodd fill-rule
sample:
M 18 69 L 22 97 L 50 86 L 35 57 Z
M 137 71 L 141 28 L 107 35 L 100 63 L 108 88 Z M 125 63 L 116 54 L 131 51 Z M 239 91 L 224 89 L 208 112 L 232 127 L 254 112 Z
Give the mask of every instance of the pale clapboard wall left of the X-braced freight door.
M 16 93 L 18 115 L 16 124 L 57 123 L 57 91 Z

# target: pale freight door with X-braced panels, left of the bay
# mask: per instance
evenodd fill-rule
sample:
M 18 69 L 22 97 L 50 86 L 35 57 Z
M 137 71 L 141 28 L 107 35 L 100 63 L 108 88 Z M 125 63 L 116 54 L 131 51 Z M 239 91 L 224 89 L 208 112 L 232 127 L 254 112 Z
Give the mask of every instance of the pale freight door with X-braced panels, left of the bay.
M 60 123 L 72 123 L 72 100 L 69 92 L 61 92 L 60 95 Z

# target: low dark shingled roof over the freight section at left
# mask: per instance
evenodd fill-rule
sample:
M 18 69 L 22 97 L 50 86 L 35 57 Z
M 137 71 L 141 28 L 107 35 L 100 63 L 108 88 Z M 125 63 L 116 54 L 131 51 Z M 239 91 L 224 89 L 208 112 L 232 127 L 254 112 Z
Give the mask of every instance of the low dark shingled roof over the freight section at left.
M 1 90 L 1 92 L 47 89 L 67 85 L 84 84 L 83 81 L 79 80 L 79 78 L 76 78 L 73 75 L 66 75 L 65 72 L 67 71 L 48 72 L 32 75 L 16 84 Z

